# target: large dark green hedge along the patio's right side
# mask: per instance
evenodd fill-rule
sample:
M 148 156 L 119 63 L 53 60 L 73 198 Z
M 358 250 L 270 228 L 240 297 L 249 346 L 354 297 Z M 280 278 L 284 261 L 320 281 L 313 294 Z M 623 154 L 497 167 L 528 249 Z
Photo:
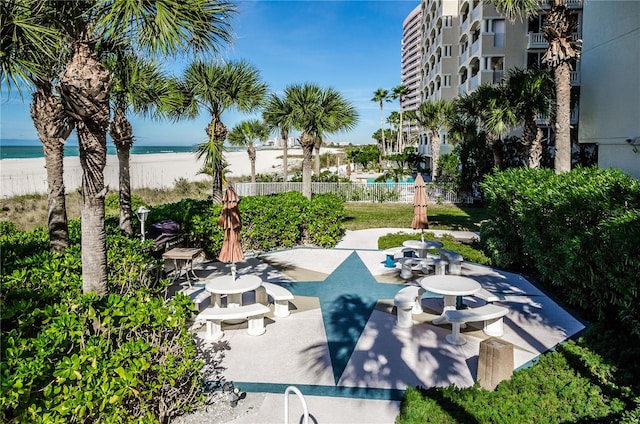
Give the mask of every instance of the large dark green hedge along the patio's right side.
M 496 218 L 483 247 L 499 266 L 534 269 L 592 319 L 640 335 L 640 182 L 617 170 L 512 169 L 482 185 Z

